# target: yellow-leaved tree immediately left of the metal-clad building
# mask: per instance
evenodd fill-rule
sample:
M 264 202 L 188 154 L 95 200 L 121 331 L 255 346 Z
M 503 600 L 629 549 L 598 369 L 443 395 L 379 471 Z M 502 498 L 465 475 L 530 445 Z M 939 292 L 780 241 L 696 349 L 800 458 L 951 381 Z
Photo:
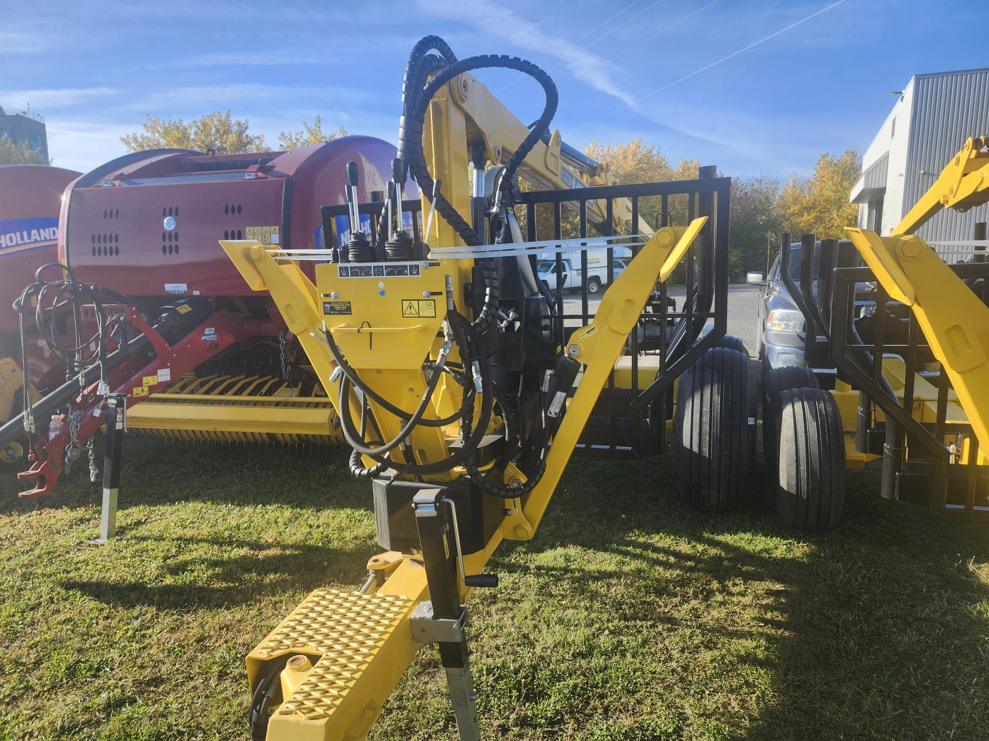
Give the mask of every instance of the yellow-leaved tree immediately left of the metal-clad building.
M 840 157 L 822 154 L 809 178 L 791 175 L 776 201 L 783 231 L 794 237 L 843 238 L 843 228 L 854 226 L 858 215 L 849 193 L 860 170 L 861 157 L 849 149 Z

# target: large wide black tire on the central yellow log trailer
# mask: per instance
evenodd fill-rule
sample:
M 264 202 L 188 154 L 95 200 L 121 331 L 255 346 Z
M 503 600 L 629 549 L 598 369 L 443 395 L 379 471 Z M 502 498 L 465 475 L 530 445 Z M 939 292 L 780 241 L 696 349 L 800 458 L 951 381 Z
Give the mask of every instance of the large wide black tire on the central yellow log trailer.
M 711 348 L 679 378 L 676 391 L 677 486 L 684 504 L 716 515 L 737 507 L 752 469 L 755 400 L 749 356 Z

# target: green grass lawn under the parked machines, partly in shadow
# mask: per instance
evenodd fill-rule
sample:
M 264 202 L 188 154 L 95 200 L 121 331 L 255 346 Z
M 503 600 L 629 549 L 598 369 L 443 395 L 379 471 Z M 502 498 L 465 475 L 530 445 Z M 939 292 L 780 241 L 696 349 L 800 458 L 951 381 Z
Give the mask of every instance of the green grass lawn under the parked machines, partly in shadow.
M 339 453 L 128 439 L 97 546 L 84 469 L 30 502 L 0 472 L 0 739 L 246 739 L 243 656 L 363 581 L 369 486 Z M 573 461 L 471 603 L 485 737 L 985 738 L 985 531 L 850 475 L 843 525 L 794 536 L 684 510 L 669 456 Z M 373 738 L 455 738 L 444 692 L 421 651 Z

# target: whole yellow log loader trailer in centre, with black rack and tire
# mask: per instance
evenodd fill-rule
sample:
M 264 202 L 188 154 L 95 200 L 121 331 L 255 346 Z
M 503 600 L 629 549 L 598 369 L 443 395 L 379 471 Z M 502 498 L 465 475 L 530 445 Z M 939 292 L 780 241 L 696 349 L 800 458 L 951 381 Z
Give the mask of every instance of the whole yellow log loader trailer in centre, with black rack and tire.
M 535 124 L 511 117 L 473 75 L 489 67 L 541 85 Z M 436 38 L 410 55 L 403 105 L 396 169 L 408 168 L 420 190 L 419 233 L 397 222 L 393 189 L 384 206 L 352 196 L 324 206 L 352 224 L 375 218 L 372 239 L 351 230 L 346 257 L 221 242 L 247 285 L 270 295 L 334 402 L 386 550 L 369 562 L 363 589 L 316 590 L 251 652 L 254 738 L 364 737 L 426 643 L 438 645 L 461 738 L 479 738 L 464 605 L 497 583 L 485 565 L 502 540 L 535 534 L 575 451 L 662 446 L 684 371 L 675 423 L 684 495 L 716 512 L 746 492 L 755 374 L 746 353 L 714 347 L 725 329 L 730 181 L 705 168 L 682 183 L 521 193 L 517 175 L 553 162 L 544 138 L 557 105 L 552 80 L 517 58 L 457 59 Z M 353 194 L 359 168 L 348 171 Z M 621 200 L 638 224 L 640 202 L 655 198 L 665 213 L 676 196 L 689 204 L 685 224 L 609 233 Z M 591 202 L 608 216 L 596 236 Z M 543 204 L 554 233 L 540 241 Z M 565 204 L 580 219 L 571 240 Z M 547 250 L 559 263 L 575 246 L 611 253 L 630 240 L 634 257 L 611 271 L 596 306 L 585 289 L 568 301 L 536 279 L 535 258 Z M 375 259 L 376 242 L 386 260 Z M 300 267 L 308 260 L 315 281 Z M 681 263 L 688 280 L 677 312 L 667 279 Z

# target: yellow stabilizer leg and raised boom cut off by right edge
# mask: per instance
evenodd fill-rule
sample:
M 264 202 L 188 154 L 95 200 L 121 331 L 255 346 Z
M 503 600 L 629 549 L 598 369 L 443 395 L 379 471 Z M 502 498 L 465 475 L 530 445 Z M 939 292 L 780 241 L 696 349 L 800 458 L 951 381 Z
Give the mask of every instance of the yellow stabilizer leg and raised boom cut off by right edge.
M 987 145 L 986 137 L 969 138 L 890 236 L 846 229 L 890 297 L 913 309 L 983 450 L 989 450 L 989 307 L 913 232 L 942 208 L 989 202 Z

